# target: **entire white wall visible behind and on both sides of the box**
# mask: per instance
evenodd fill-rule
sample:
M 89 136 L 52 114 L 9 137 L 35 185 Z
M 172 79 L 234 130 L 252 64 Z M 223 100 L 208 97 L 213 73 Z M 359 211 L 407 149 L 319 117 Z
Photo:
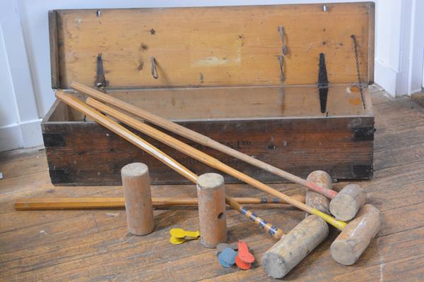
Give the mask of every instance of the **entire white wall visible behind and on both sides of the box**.
M 3 0 L 0 1 L 0 151 L 42 145 L 40 117 L 54 102 L 47 11 L 59 8 L 138 8 L 346 2 L 346 0 Z M 420 90 L 423 0 L 377 0 L 375 81 L 391 94 Z M 410 20 L 408 20 L 410 19 Z M 24 40 L 25 39 L 25 40 Z M 410 47 L 410 43 L 413 47 Z M 418 83 L 418 84 L 417 84 Z M 418 85 L 418 87 L 416 87 Z

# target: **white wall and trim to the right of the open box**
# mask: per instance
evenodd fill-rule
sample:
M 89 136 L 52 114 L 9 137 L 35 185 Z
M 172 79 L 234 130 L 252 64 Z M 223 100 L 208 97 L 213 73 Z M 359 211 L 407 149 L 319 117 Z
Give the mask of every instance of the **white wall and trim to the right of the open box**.
M 424 1 L 379 0 L 376 12 L 375 81 L 392 96 L 423 85 Z

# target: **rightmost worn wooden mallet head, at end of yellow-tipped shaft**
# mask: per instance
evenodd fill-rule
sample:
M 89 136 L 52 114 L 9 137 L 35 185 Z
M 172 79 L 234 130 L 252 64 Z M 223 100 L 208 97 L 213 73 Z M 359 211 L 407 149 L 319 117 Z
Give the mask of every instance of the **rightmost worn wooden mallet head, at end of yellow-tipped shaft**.
M 382 216 L 372 204 L 365 204 L 358 216 L 348 223 L 331 244 L 330 252 L 336 262 L 354 264 L 382 226 Z

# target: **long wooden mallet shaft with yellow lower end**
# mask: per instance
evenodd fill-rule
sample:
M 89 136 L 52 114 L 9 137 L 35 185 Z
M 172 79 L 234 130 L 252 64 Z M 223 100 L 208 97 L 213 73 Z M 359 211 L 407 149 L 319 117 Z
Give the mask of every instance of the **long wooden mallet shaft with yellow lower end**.
M 153 128 L 150 125 L 147 125 L 146 123 L 137 121 L 135 118 L 131 118 L 130 116 L 127 116 L 126 114 L 123 114 L 122 112 L 117 111 L 116 109 L 113 109 L 110 106 L 107 106 L 101 102 L 98 102 L 97 100 L 93 98 L 88 98 L 86 102 L 90 106 L 94 106 L 99 111 L 102 111 L 105 114 L 108 114 L 110 116 L 113 116 L 114 118 L 117 118 L 118 121 L 122 121 L 126 125 L 129 125 L 132 128 L 135 128 L 136 130 L 141 131 L 141 133 L 149 135 L 150 137 L 153 137 L 156 140 L 163 142 L 164 144 L 174 149 L 177 149 L 179 152 L 183 152 L 184 154 L 187 154 L 189 157 L 197 159 L 198 161 L 201 161 L 202 163 L 207 164 L 208 166 L 211 166 L 220 171 L 228 173 L 230 174 L 230 176 L 234 176 L 235 178 L 240 179 L 244 181 L 245 183 L 248 183 L 258 188 L 259 190 L 268 192 L 274 197 L 278 197 L 281 200 L 284 200 L 285 202 L 288 202 L 289 204 L 292 204 L 293 206 L 298 207 L 298 209 L 302 209 L 305 212 L 308 212 L 310 214 L 315 214 L 321 217 L 326 222 L 330 223 L 331 225 L 333 225 L 334 227 L 340 230 L 343 230 L 344 226 L 346 226 L 346 223 L 344 223 L 343 221 L 337 221 L 333 217 L 327 214 L 324 214 L 323 212 L 320 212 L 318 209 L 313 209 L 312 207 L 309 207 L 306 204 L 303 204 L 302 202 L 294 200 L 293 198 L 288 197 L 287 195 L 284 195 L 282 192 L 279 192 L 269 187 L 268 185 L 261 183 L 259 180 L 256 180 L 250 176 L 247 176 L 244 173 L 241 173 L 240 171 L 235 170 L 234 168 L 224 164 L 218 159 L 215 159 L 209 156 L 208 154 L 205 154 L 204 152 L 201 152 L 198 149 L 195 149 L 194 147 L 191 147 L 187 145 L 186 143 L 181 142 L 177 140 L 176 138 L 170 135 L 167 135 L 166 133 L 163 133 L 160 130 L 157 130 L 156 128 Z

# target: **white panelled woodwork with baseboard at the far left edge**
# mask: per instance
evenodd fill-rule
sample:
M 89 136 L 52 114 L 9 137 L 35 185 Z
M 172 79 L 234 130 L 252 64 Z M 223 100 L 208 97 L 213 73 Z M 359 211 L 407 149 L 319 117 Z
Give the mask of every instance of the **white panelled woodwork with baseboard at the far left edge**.
M 16 0 L 0 4 L 0 152 L 42 144 Z

